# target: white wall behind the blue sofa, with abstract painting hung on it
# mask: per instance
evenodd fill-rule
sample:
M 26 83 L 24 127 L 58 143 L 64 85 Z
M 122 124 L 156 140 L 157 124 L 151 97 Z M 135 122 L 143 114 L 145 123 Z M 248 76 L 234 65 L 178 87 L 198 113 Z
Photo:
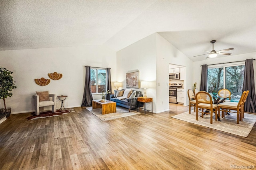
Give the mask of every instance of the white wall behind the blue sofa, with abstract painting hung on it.
M 140 71 L 140 81 L 150 81 L 147 96 L 153 98 L 153 112 L 156 113 L 156 34 L 121 49 L 116 60 L 117 81 L 122 83 L 118 89 L 126 89 L 126 73 Z M 143 88 L 134 90 L 144 91 Z M 148 104 L 146 109 L 151 109 L 151 103 Z

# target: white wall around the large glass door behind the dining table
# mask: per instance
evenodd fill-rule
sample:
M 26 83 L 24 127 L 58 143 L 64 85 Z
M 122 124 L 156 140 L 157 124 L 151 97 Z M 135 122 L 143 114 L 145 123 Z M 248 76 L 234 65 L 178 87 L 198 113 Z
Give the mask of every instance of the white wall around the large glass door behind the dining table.
M 246 53 L 241 55 L 230 55 L 227 57 L 216 57 L 213 59 L 205 59 L 203 61 L 196 61 L 193 63 L 194 70 L 193 70 L 193 82 L 197 83 L 198 89 L 200 89 L 200 77 L 201 77 L 201 65 L 203 64 L 218 64 L 218 63 L 226 63 L 224 65 L 230 65 L 230 64 L 237 64 L 237 63 L 227 63 L 227 62 L 233 62 L 233 61 L 244 61 L 246 59 L 255 59 L 256 53 Z M 245 63 L 245 62 L 242 62 Z M 222 64 L 223 65 L 223 64 Z M 210 67 L 210 66 L 208 66 Z M 253 68 L 254 68 L 254 79 L 256 79 L 256 61 L 253 61 Z M 256 87 L 256 82 L 255 82 Z

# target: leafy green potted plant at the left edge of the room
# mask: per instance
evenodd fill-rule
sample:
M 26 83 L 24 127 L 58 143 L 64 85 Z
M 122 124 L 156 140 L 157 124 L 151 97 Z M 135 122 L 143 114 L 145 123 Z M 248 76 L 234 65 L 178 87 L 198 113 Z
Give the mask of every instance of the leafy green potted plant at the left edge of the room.
M 12 89 L 17 88 L 14 83 L 12 72 L 0 66 L 0 99 L 4 100 L 4 108 L 0 109 L 0 114 L 7 114 L 6 117 L 10 116 L 12 109 L 6 108 L 5 99 L 12 97 Z

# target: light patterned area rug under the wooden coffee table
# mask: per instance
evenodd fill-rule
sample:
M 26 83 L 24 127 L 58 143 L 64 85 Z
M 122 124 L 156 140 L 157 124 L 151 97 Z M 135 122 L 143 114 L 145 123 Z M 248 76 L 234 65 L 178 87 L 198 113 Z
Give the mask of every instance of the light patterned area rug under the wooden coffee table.
M 92 109 L 92 107 L 86 107 L 86 109 L 102 121 L 109 121 L 109 120 L 118 119 L 121 117 L 128 117 L 128 116 L 140 114 L 140 112 L 137 112 L 134 110 L 130 110 L 129 112 L 128 109 L 124 107 L 119 107 L 119 106 L 116 107 L 116 113 L 108 113 L 106 115 L 101 114 L 102 113 L 101 108 Z

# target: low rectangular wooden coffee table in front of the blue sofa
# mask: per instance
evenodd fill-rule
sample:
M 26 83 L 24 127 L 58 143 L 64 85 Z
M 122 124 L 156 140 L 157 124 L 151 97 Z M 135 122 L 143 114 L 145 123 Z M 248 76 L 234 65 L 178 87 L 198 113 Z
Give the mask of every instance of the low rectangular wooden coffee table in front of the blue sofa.
M 92 100 L 92 109 L 102 108 L 102 115 L 116 112 L 116 102 L 106 100 L 106 102 L 100 102 L 101 99 Z

